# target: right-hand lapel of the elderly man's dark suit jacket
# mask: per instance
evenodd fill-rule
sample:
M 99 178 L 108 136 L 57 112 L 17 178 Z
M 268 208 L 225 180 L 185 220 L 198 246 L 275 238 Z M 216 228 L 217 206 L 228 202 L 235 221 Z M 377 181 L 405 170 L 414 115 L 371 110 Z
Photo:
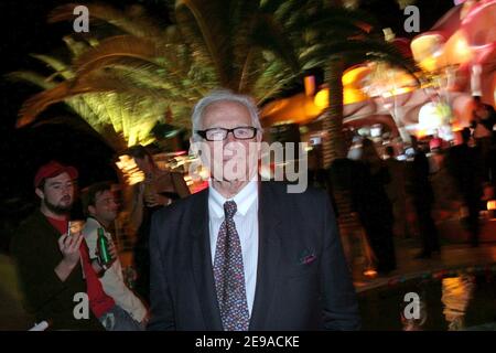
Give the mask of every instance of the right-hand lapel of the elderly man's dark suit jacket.
M 260 182 L 257 287 L 250 319 L 250 331 L 266 329 L 265 322 L 277 286 L 281 255 L 280 224 L 282 220 L 279 207 L 280 203 L 271 188 L 271 183 Z

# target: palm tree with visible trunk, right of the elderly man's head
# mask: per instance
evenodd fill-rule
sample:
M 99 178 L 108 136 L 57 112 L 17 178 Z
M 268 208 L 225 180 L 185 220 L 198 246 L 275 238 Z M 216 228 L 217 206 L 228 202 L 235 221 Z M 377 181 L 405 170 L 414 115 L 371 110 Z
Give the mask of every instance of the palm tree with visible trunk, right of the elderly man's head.
M 346 156 L 343 131 L 343 73 L 366 61 L 386 62 L 412 75 L 420 71 L 411 58 L 384 39 L 379 24 L 358 9 L 348 9 L 341 1 L 288 2 L 281 21 L 296 41 L 304 68 L 324 68 L 330 101 L 324 113 L 324 164 Z

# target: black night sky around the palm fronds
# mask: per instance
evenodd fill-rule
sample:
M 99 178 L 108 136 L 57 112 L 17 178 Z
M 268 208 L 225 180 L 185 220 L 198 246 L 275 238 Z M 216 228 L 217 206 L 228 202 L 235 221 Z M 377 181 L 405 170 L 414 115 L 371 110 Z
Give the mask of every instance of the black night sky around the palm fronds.
M 3 218 L 14 216 L 35 200 L 32 180 L 36 169 L 51 159 L 57 159 L 78 168 L 79 185 L 86 186 L 99 180 L 116 179 L 111 163 L 111 151 L 100 139 L 71 129 L 62 125 L 43 125 L 15 129 L 18 110 L 23 100 L 39 92 L 36 87 L 24 83 L 11 83 L 3 78 L 8 72 L 17 69 L 44 71 L 42 64 L 29 56 L 30 53 L 53 53 L 64 45 L 63 35 L 72 31 L 71 23 L 47 24 L 46 17 L 64 0 L 2 0 L 1 15 L 1 77 L 0 77 L 0 211 Z M 104 1 L 125 7 L 129 3 L 141 2 L 151 12 L 165 17 L 165 7 L 160 0 L 142 1 Z M 392 0 L 363 1 L 364 8 L 371 10 L 381 23 L 396 29 L 398 36 L 402 33 L 405 15 Z M 421 30 L 428 30 L 448 9 L 453 6 L 450 0 L 418 1 L 421 10 Z M 71 111 L 63 105 L 56 105 L 43 113 L 41 121 L 54 116 L 71 119 Z M 75 118 L 74 116 L 72 117 Z

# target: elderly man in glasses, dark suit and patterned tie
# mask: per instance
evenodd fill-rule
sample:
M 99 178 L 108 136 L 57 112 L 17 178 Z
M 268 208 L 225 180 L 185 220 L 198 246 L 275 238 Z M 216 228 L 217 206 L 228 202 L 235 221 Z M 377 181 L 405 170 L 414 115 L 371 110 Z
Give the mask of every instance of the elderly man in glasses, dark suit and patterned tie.
M 356 330 L 358 306 L 328 197 L 260 181 L 246 96 L 195 106 L 208 189 L 152 220 L 150 330 Z

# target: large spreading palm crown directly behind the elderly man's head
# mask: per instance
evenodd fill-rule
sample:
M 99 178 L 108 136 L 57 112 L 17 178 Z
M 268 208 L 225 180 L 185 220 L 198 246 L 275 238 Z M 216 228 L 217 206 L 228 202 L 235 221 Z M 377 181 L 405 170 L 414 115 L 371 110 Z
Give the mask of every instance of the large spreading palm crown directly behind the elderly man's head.
M 50 21 L 73 19 L 74 7 L 56 8 Z M 171 25 L 157 23 L 140 7 L 126 11 L 104 4 L 87 7 L 95 20 L 111 24 L 118 34 L 103 40 L 67 36 L 71 65 L 48 63 L 56 74 L 36 79 L 46 83 L 45 90 L 25 101 L 18 126 L 32 122 L 57 101 L 74 109 L 74 99 L 79 99 L 86 106 L 76 111 L 94 127 L 116 122 L 101 116 L 108 110 L 125 115 L 126 124 L 118 121 L 122 128 L 115 130 L 137 127 L 141 135 L 123 136 L 125 145 L 132 145 L 145 139 L 152 122 L 168 110 L 175 125 L 188 127 L 193 104 L 216 87 L 250 94 L 261 103 L 299 73 L 282 28 L 256 1 L 176 1 Z M 17 76 L 28 78 L 25 74 Z M 90 109 L 88 100 L 93 101 Z M 150 111 L 143 116 L 147 109 Z M 148 124 L 144 129 L 143 122 Z

